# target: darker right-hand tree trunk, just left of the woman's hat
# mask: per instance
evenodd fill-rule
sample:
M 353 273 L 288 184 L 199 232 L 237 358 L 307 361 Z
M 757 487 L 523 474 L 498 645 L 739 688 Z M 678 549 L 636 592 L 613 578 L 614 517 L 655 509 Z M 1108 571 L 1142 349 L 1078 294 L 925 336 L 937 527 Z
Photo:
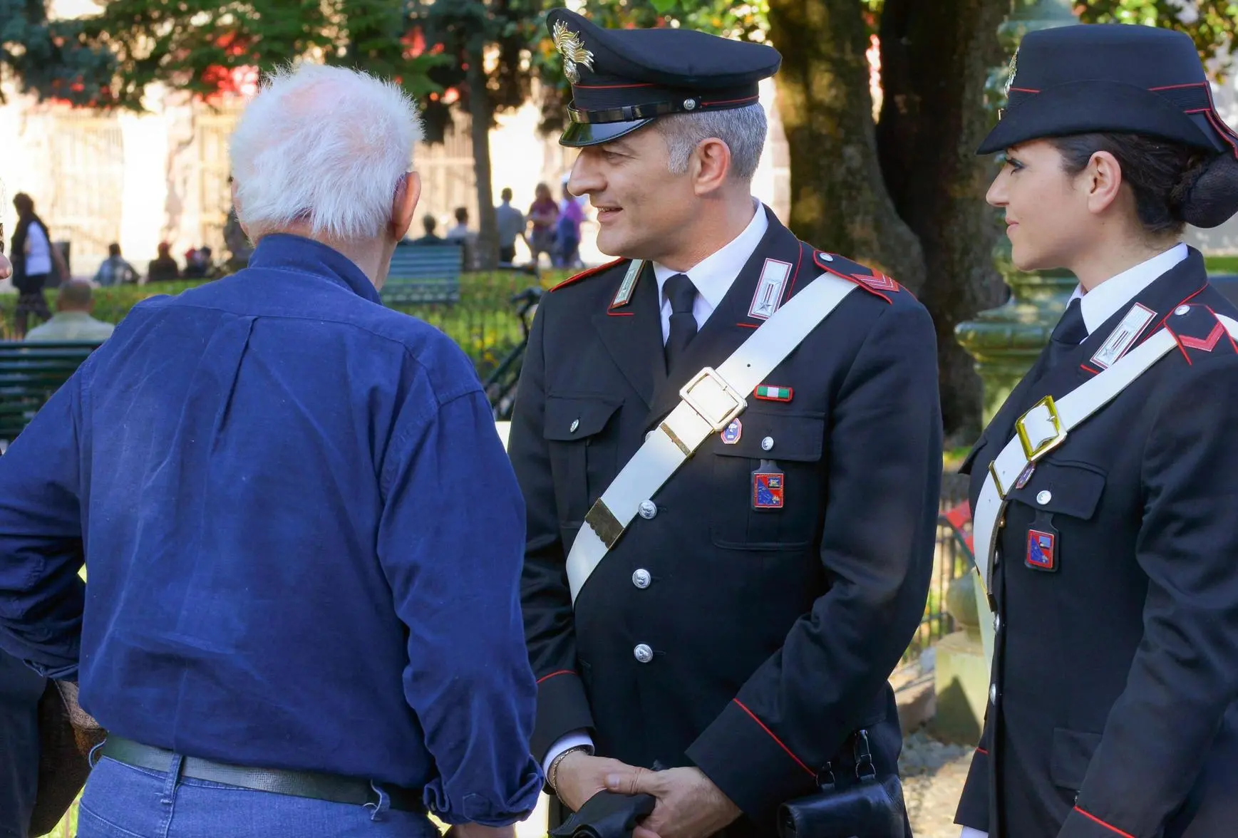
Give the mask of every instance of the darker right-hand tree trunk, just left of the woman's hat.
M 942 413 L 958 444 L 979 431 L 980 381 L 954 326 L 1005 296 L 992 256 L 998 214 L 984 202 L 995 170 L 976 147 L 992 126 L 984 80 L 1005 58 L 997 28 L 1009 10 L 1010 0 L 885 0 L 879 32 L 878 152 L 924 249 L 920 298 L 937 324 Z

